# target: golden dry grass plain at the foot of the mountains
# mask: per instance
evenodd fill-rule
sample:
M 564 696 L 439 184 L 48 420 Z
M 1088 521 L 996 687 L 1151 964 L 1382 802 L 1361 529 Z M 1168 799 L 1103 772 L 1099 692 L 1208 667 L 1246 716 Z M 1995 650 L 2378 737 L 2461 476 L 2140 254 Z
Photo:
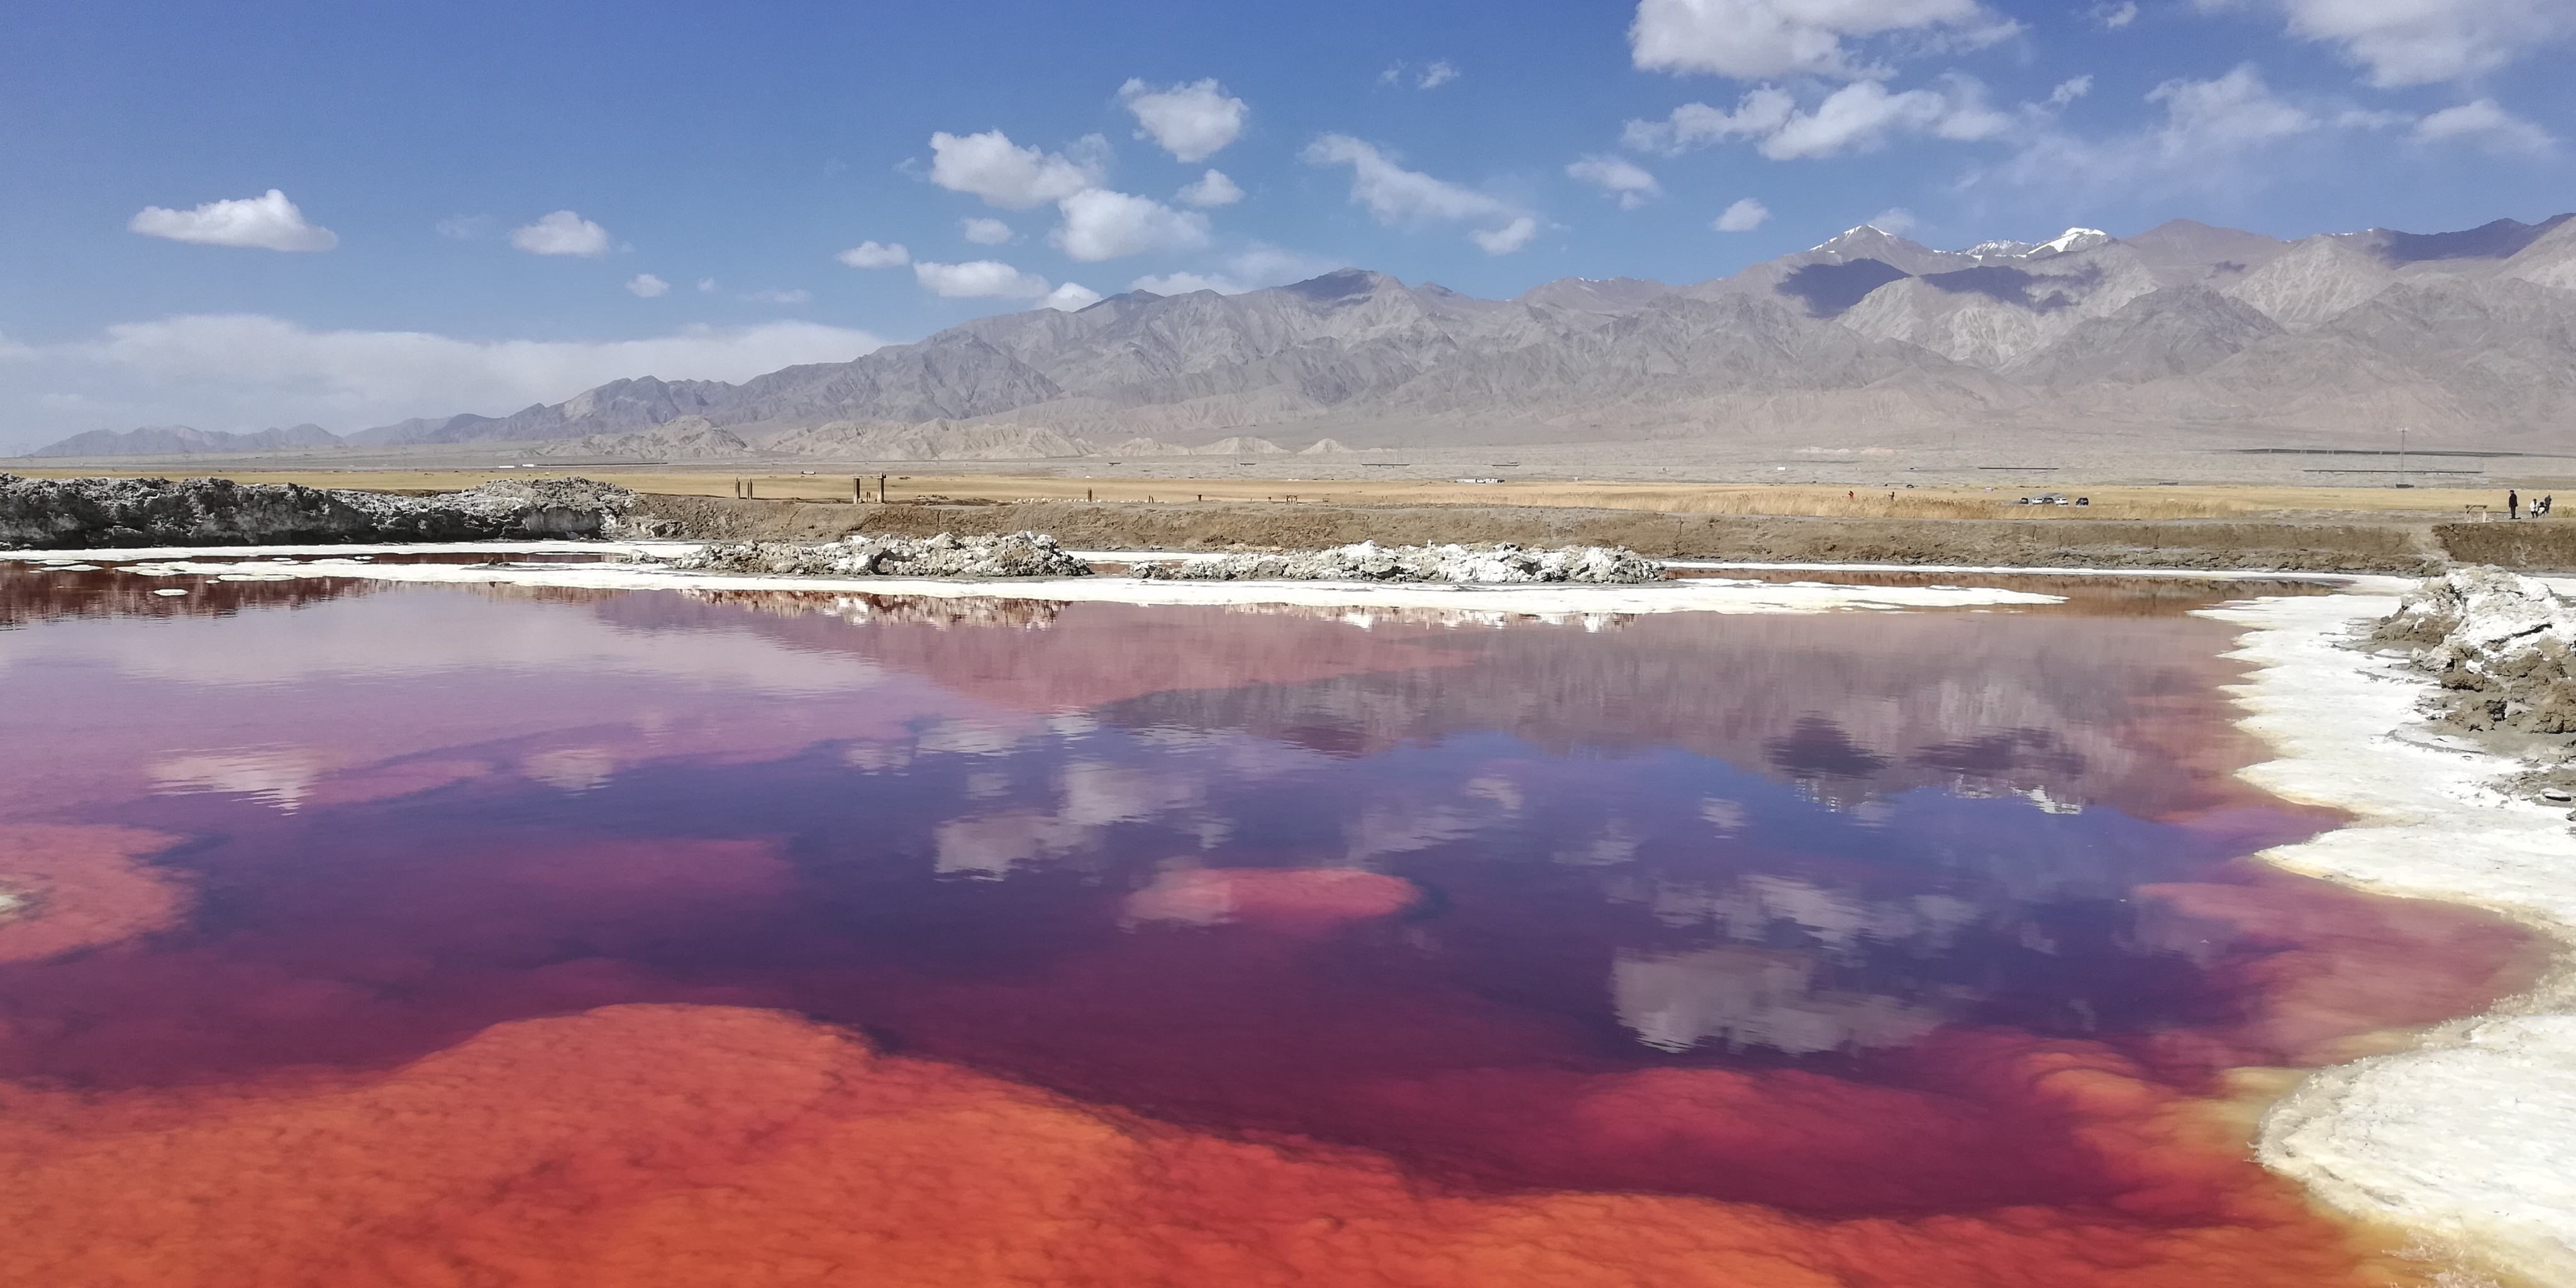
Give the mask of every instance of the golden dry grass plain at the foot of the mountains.
M 111 474 L 103 469 L 23 469 L 31 477 Z M 134 474 L 170 474 L 167 466 Z M 191 471 L 193 474 L 193 471 Z M 214 471 L 240 482 L 299 482 L 307 487 L 366 487 L 446 492 L 487 479 L 595 477 L 639 492 L 680 497 L 757 500 L 878 500 L 878 474 L 744 474 L 721 469 L 384 469 L 384 471 Z M 1533 505 L 1595 510 L 1659 510 L 1685 515 L 1801 515 L 1801 518 L 2385 518 L 2460 520 L 2476 505 L 2504 518 L 2501 487 L 2069 487 L 2089 505 L 2020 505 L 2045 484 L 1855 489 L 1832 484 L 1718 484 L 1718 482 L 1422 482 L 1422 479 L 1136 479 L 1046 474 L 884 474 L 889 500 L 1100 500 L 1100 502 L 1332 502 L 1332 505 Z M 2576 502 L 2576 495 L 2568 497 Z M 2576 518 L 2576 513 L 2571 513 Z

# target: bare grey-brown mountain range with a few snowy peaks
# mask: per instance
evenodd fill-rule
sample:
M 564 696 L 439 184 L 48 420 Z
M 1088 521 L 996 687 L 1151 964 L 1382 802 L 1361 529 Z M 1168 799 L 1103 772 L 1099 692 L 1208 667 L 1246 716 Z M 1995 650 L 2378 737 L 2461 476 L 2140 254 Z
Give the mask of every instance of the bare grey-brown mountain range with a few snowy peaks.
M 1731 278 L 1561 278 L 1507 301 L 1347 268 L 1234 296 L 1128 291 L 981 317 L 742 384 L 634 376 L 348 443 L 1025 459 L 1188 451 L 1252 430 L 1270 448 L 2017 425 L 2213 443 L 2566 435 L 2576 216 L 2295 242 L 2174 219 L 2136 237 L 2069 229 L 1968 250 L 1857 227 Z M 131 435 L 41 451 L 144 451 L 108 446 L 142 443 Z

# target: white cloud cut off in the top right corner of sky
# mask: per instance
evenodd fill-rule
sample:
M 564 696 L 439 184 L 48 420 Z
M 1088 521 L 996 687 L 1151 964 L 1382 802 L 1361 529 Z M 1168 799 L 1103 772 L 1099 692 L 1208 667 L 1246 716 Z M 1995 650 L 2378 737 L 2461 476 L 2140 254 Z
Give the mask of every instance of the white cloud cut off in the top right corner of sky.
M 2200 0 L 2200 8 L 2236 3 Z M 2576 5 L 2566 0 L 2280 0 L 2280 8 L 2293 36 L 2342 46 L 2380 88 L 2476 77 L 2576 36 Z

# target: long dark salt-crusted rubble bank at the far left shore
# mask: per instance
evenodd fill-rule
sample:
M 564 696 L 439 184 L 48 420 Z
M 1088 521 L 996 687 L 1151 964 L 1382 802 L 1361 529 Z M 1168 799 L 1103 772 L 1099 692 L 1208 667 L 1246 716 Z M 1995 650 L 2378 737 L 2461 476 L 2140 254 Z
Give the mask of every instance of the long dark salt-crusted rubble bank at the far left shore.
M 500 479 L 394 497 L 232 479 L 23 479 L 0 474 L 0 546 L 307 546 L 618 536 L 636 495 L 590 479 Z

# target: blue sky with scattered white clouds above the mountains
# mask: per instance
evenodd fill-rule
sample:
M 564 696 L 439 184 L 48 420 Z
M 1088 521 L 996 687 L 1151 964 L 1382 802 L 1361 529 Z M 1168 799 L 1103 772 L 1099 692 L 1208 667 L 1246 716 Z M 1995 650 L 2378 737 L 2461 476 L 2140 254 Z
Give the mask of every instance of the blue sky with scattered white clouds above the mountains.
M 2540 219 L 2576 206 L 2571 33 L 2571 0 L 18 0 L 0 446 L 739 379 L 1136 281 Z

